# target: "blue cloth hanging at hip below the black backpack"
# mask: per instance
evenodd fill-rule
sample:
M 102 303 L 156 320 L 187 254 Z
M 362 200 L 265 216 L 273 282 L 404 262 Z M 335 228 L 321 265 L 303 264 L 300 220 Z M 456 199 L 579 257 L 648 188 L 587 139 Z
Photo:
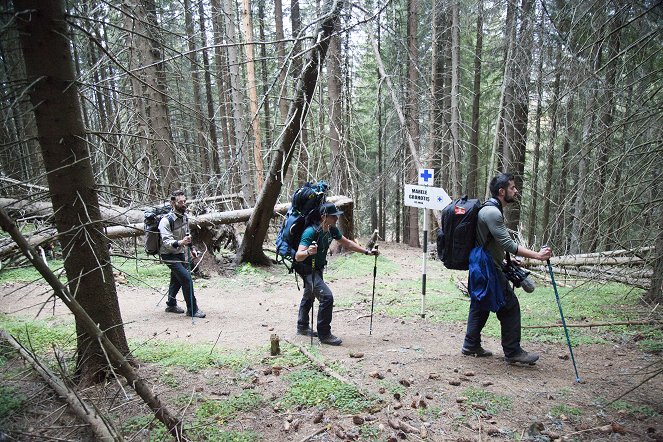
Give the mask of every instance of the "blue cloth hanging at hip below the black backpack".
M 467 288 L 470 298 L 482 310 L 498 311 L 504 304 L 504 288 L 497 274 L 492 256 L 482 246 L 470 252 L 469 279 Z

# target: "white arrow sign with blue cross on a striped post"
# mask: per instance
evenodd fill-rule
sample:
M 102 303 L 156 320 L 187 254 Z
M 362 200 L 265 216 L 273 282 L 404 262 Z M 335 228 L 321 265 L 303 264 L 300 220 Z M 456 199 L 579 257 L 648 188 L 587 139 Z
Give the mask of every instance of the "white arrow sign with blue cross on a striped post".
M 433 169 L 419 169 L 417 186 L 406 184 L 403 195 L 405 205 L 424 209 L 424 244 L 421 270 L 421 317 L 426 317 L 426 258 L 428 255 L 428 209 L 442 210 L 451 203 L 451 198 L 444 189 L 432 187 Z

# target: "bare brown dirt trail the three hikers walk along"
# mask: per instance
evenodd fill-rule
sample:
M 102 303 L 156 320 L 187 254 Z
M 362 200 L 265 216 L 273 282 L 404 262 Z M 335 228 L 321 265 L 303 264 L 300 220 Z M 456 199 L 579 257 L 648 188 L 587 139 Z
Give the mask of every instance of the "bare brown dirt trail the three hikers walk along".
M 384 244 L 381 251 L 401 268 L 398 272 L 381 276 L 383 281 L 397 281 L 418 278 L 420 272 L 420 253 L 401 245 Z M 333 268 L 334 259 L 330 266 Z M 164 267 L 164 271 L 165 267 Z M 357 292 L 370 299 L 372 280 L 366 277 L 351 278 L 336 275 L 337 279 L 330 287 L 337 300 Z M 429 276 L 430 278 L 431 276 Z M 434 275 L 433 277 L 437 277 Z M 118 295 L 122 316 L 126 322 L 126 333 L 132 339 L 175 339 L 183 342 L 214 343 L 219 348 L 231 350 L 255 349 L 269 344 L 272 333 L 292 339 L 302 345 L 308 345 L 309 338 L 295 334 L 297 306 L 301 292 L 297 291 L 292 275 L 286 275 L 281 268 L 273 269 L 262 280 L 254 278 L 250 287 L 239 287 L 223 277 L 209 281 L 197 281 L 196 296 L 207 318 L 196 319 L 184 315 L 164 312 L 165 299 L 153 290 L 131 288 L 118 285 Z M 11 290 L 10 286 L 3 289 Z M 0 310 L 5 313 L 17 312 L 22 315 L 34 315 L 40 308 L 39 301 L 43 293 L 32 288 L 20 290 L 0 303 Z M 181 297 L 181 294 L 180 294 Z M 379 298 L 378 298 L 379 299 Z M 181 298 L 179 299 L 182 303 Z M 530 424 L 545 422 L 550 432 L 569 434 L 592 426 L 600 427 L 612 422 L 619 422 L 627 433 L 600 434 L 594 431 L 578 433 L 580 439 L 594 440 L 596 437 L 615 440 L 658 440 L 663 439 L 663 379 L 658 376 L 645 388 L 636 389 L 627 398 L 630 403 L 647 406 L 658 414 L 646 416 L 614 410 L 606 415 L 597 412 L 597 400 L 612 399 L 629 388 L 636 386 L 644 377 L 643 370 L 652 363 L 661 364 L 661 357 L 644 354 L 633 342 L 605 345 L 582 345 L 574 348 L 583 383 L 575 382 L 573 366 L 569 360 L 560 359 L 568 350 L 565 345 L 547 345 L 524 343 L 528 350 L 539 352 L 541 360 L 534 366 L 513 366 L 501 359 L 499 342 L 484 338 L 485 347 L 494 351 L 495 357 L 476 359 L 460 354 L 465 324 L 437 324 L 418 316 L 404 320 L 376 316 L 373 322 L 373 334 L 369 336 L 369 303 L 353 305 L 349 308 L 337 308 L 333 320 L 333 332 L 343 339 L 340 347 L 322 346 L 320 353 L 327 361 L 340 361 L 348 370 L 348 376 L 359 386 L 369 391 L 377 391 L 376 380 L 369 376 L 371 372 L 381 373 L 387 382 L 410 385 L 407 397 L 401 401 L 406 405 L 400 411 L 388 406 L 381 413 L 387 416 L 403 417 L 408 413 L 417 416 L 417 411 L 408 407 L 409 401 L 428 395 L 431 404 L 438 404 L 444 410 L 439 422 L 429 422 L 429 440 L 457 440 L 466 435 L 472 440 L 477 434 L 481 437 L 479 422 L 467 422 L 457 428 L 457 432 L 444 430 L 436 425 L 448 428 L 455 416 L 463 410 L 458 398 L 468 387 L 485 389 L 492 393 L 505 395 L 512 399 L 512 410 L 499 418 L 485 419 L 484 431 L 488 428 L 517 429 L 520 434 L 509 437 L 521 437 Z M 317 303 L 316 303 L 317 307 Z M 59 302 L 49 304 L 42 315 L 68 318 L 69 314 Z M 491 317 L 491 321 L 495 319 Z M 319 345 L 316 342 L 316 345 Z M 363 353 L 362 358 L 350 358 L 349 353 Z M 205 374 L 204 374 L 205 375 Z M 455 384 L 455 385 L 454 385 Z M 388 395 L 387 395 L 388 396 Z M 387 402 L 393 398 L 386 397 Z M 551 408 L 567 404 L 571 408 L 581 408 L 580 417 L 551 417 Z M 460 411 L 459 411 L 460 410 Z M 342 417 L 339 417 L 342 420 Z M 566 420 L 565 420 L 566 419 Z M 346 419 L 347 420 L 347 419 Z M 491 423 L 492 422 L 492 423 Z M 351 426 L 352 424 L 350 424 Z M 346 424 L 347 426 L 347 424 Z M 303 425 L 297 435 L 284 435 L 282 432 L 275 440 L 298 440 L 307 431 L 315 431 L 315 426 Z M 276 431 L 276 430 L 274 430 Z M 495 437 L 506 437 L 507 433 L 494 431 Z M 651 437 L 650 437 L 651 436 Z M 281 439 L 282 437 L 282 439 Z M 486 433 L 483 433 L 484 439 Z M 314 440 L 326 439 L 320 436 Z M 462 439 L 461 439 L 462 440 Z

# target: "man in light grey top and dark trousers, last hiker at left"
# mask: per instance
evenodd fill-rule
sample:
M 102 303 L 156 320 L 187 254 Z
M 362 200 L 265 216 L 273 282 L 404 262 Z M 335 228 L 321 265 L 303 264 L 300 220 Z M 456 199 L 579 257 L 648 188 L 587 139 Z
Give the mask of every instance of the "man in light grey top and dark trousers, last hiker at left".
M 159 255 L 161 260 L 170 268 L 170 286 L 168 287 L 168 301 L 166 312 L 184 313 L 184 309 L 177 305 L 177 292 L 182 289 L 186 303 L 186 315 L 204 318 L 205 313 L 198 308 L 196 297 L 193 294 L 193 280 L 191 279 L 191 257 L 197 257 L 198 251 L 191 245 L 191 232 L 189 218 L 186 215 L 186 196 L 181 190 L 170 195 L 172 209 L 167 216 L 159 222 L 161 234 L 161 247 Z

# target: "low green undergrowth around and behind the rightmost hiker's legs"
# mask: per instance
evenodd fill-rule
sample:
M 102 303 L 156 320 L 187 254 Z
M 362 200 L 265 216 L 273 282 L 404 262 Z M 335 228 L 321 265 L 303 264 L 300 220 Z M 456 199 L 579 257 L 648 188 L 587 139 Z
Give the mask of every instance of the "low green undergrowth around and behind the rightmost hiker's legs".
M 382 257 L 380 257 L 382 258 Z M 364 272 L 366 277 L 372 276 Z M 469 308 L 469 298 L 459 289 L 467 281 L 467 272 L 450 271 L 442 268 L 439 261 L 431 261 L 426 279 L 425 313 L 432 322 L 465 322 Z M 561 327 L 559 307 L 555 292 L 546 281 L 536 281 L 533 293 L 516 289 L 523 328 L 523 339 L 543 343 L 565 342 Z M 375 314 L 394 318 L 419 318 L 421 313 L 421 275 L 409 278 L 380 277 L 376 280 Z M 558 287 L 562 311 L 567 324 L 587 324 L 637 320 L 640 312 L 642 290 L 618 284 L 585 283 L 576 287 Z M 336 302 L 338 307 L 362 306 L 370 303 L 366 293 L 346 296 Z M 368 296 L 368 297 L 367 297 Z M 553 326 L 546 328 L 526 328 L 527 326 Z M 636 341 L 639 348 L 651 353 L 663 351 L 663 331 L 650 326 L 628 327 L 610 326 L 601 328 L 569 327 L 573 345 Z M 484 334 L 499 338 L 500 324 L 495 314 L 491 314 Z

